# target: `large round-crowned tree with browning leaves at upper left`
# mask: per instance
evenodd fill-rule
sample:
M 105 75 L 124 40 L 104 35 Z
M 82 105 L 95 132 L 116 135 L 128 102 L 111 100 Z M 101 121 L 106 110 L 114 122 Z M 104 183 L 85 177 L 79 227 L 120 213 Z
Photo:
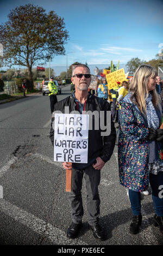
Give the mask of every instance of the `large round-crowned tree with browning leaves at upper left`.
M 10 11 L 8 21 L 0 26 L 3 61 L 7 66 L 10 63 L 10 67 L 27 67 L 32 84 L 32 67 L 54 55 L 64 55 L 67 39 L 64 19 L 53 10 L 46 14 L 38 5 L 16 7 Z

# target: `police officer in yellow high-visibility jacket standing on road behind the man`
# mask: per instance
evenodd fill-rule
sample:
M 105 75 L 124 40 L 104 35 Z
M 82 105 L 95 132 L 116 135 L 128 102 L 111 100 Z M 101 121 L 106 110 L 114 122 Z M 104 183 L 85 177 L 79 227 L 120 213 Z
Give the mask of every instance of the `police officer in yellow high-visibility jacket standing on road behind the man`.
M 49 88 L 49 96 L 50 96 L 50 103 L 51 103 L 51 112 L 53 113 L 54 105 L 57 103 L 57 96 L 58 88 L 57 85 L 53 82 L 53 76 L 50 77 L 50 81 L 48 82 L 48 88 Z

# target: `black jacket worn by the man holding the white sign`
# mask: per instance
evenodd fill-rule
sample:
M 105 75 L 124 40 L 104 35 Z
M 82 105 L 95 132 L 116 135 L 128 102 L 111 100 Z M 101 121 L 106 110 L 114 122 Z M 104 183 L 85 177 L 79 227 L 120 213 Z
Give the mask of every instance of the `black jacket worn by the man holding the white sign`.
M 65 113 L 65 106 L 69 106 L 69 113 L 71 114 L 72 111 L 78 111 L 78 103 L 75 101 L 75 98 L 71 95 L 60 102 L 54 105 L 54 117 L 55 111 L 61 111 L 63 114 Z M 104 125 L 106 126 L 106 111 L 110 111 L 110 104 L 103 99 L 100 99 L 96 96 L 93 96 L 89 93 L 87 100 L 84 104 L 85 111 L 98 111 L 100 117 L 100 111 L 104 111 L 105 118 L 104 118 Z M 66 111 L 67 112 L 67 111 Z M 51 123 L 51 132 L 50 132 L 50 139 L 52 141 L 52 145 L 54 146 L 54 129 L 53 129 L 53 122 L 54 117 L 52 117 Z M 95 117 L 92 115 L 92 118 L 95 121 Z M 97 120 L 96 120 L 97 121 Z M 95 130 L 95 126 L 93 125 L 93 129 L 89 130 L 89 147 L 88 147 L 88 163 L 92 164 L 92 160 L 96 159 L 97 157 L 101 157 L 104 162 L 107 162 L 113 151 L 115 146 L 116 140 L 116 130 L 114 127 L 114 122 L 112 122 L 112 117 L 107 120 L 111 122 L 111 133 L 108 136 L 101 136 L 100 124 L 99 129 Z M 98 120 L 99 122 L 99 120 Z

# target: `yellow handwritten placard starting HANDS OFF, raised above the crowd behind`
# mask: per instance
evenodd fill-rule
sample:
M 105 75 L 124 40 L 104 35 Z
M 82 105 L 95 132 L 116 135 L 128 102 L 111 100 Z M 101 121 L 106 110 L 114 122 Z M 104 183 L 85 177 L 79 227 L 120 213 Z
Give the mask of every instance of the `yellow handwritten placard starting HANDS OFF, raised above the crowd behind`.
M 118 70 L 106 75 L 106 80 L 108 83 L 109 90 L 116 87 L 117 82 L 120 82 L 122 84 L 123 81 L 128 81 L 126 79 L 126 75 L 124 73 L 124 68 L 118 69 Z

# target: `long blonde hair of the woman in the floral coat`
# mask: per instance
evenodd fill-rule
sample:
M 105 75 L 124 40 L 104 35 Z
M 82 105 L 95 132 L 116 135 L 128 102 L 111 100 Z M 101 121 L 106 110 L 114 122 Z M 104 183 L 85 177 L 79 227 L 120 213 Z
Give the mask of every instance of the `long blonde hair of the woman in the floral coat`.
M 139 110 L 146 114 L 146 98 L 148 97 L 148 80 L 156 78 L 157 72 L 155 68 L 148 65 L 141 65 L 136 69 L 135 75 L 131 80 L 129 91 L 131 92 L 131 102 L 135 103 Z M 161 103 L 156 90 L 151 91 L 152 103 L 154 108 L 159 108 Z

